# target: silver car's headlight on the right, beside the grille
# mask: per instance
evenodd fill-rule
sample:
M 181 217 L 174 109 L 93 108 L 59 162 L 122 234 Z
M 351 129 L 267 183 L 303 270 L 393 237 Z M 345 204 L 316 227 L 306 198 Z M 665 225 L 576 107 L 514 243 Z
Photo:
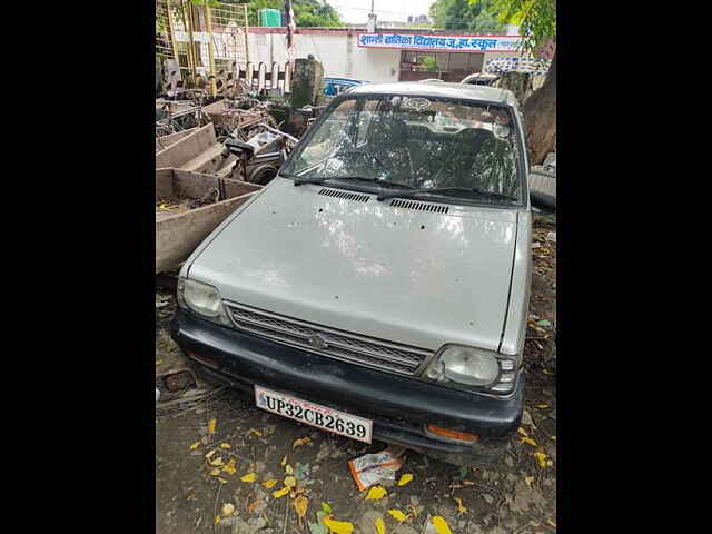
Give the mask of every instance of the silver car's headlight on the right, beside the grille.
M 425 370 L 434 382 L 510 393 L 514 388 L 516 362 L 496 353 L 463 345 L 446 345 Z

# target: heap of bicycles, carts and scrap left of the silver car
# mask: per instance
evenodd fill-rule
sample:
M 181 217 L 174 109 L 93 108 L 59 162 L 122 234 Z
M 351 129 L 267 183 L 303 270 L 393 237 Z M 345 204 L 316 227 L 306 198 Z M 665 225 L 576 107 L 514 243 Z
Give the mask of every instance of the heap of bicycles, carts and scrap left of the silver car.
M 189 99 L 174 93 L 157 99 L 156 274 L 179 266 L 217 225 L 277 176 L 318 111 L 251 93 Z

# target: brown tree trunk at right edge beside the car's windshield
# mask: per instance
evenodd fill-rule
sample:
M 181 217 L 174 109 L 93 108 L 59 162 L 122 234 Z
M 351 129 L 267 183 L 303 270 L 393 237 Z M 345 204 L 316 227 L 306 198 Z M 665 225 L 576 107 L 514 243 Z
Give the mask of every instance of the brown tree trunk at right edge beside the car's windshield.
M 541 165 L 556 147 L 556 53 L 546 81 L 526 99 L 522 108 L 531 165 Z

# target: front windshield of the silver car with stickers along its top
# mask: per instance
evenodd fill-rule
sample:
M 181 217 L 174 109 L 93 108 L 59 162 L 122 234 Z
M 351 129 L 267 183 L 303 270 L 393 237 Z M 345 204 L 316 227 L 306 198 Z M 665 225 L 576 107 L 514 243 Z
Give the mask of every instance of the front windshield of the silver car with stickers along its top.
M 340 100 L 284 167 L 305 180 L 343 178 L 486 204 L 518 204 L 515 122 L 506 108 L 413 96 Z M 349 181 L 346 181 L 349 180 Z M 408 186 L 408 187 L 402 187 Z M 423 189 L 438 189 L 427 194 Z M 483 192 L 490 195 L 483 195 Z M 508 198 L 507 198 L 508 197 Z

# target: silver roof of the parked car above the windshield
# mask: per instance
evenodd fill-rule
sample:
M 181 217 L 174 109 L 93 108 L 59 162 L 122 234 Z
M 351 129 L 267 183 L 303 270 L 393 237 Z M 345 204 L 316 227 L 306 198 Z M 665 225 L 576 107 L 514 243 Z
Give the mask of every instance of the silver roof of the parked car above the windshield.
M 364 83 L 348 91 L 353 95 L 418 95 L 421 97 L 462 98 L 500 106 L 516 107 L 514 93 L 508 89 L 471 86 L 449 81 L 397 81 L 392 83 Z

